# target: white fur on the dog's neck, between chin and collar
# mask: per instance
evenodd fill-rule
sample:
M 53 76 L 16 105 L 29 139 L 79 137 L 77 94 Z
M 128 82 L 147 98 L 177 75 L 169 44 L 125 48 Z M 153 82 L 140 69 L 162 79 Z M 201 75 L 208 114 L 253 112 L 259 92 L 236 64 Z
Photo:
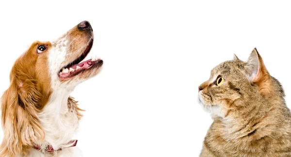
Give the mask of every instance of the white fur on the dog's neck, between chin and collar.
M 54 150 L 65 147 L 72 140 L 79 126 L 79 119 L 74 108 L 68 108 L 68 98 L 73 88 L 53 90 L 49 102 L 40 114 L 45 141 L 39 144 L 46 147 L 52 145 Z

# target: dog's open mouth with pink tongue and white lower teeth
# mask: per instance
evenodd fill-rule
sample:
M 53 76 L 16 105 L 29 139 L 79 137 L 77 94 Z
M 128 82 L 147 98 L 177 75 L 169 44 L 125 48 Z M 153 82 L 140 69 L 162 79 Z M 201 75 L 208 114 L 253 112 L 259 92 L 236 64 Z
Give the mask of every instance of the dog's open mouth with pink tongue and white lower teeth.
M 92 58 L 92 59 L 82 61 L 89 54 L 92 48 L 92 45 L 93 45 L 93 39 L 89 42 L 87 48 L 81 54 L 80 57 L 78 57 L 73 62 L 71 62 L 70 64 L 68 64 L 67 66 L 65 66 L 64 68 L 60 70 L 59 77 L 61 79 L 66 80 L 88 69 L 102 66 L 103 60 L 101 60 L 100 58 Z

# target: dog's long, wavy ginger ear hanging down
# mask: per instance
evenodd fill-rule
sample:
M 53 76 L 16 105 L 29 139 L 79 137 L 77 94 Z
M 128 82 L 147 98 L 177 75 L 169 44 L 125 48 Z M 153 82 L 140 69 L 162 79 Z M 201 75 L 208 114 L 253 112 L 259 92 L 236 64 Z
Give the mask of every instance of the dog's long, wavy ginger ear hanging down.
M 41 94 L 35 80 L 18 81 L 12 78 L 1 98 L 1 119 L 4 138 L 0 157 L 16 157 L 37 141 L 44 139 L 37 114 Z

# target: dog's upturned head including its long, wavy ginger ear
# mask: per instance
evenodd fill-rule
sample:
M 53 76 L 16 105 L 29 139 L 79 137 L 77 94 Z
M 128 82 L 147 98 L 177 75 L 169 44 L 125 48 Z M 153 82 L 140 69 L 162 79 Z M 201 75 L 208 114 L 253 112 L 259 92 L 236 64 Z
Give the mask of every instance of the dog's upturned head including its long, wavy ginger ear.
M 4 139 L 0 156 L 14 156 L 44 138 L 37 113 L 52 91 L 72 90 L 97 75 L 103 61 L 85 60 L 93 45 L 93 29 L 83 21 L 53 42 L 34 42 L 10 73 L 10 86 L 1 100 Z M 66 89 L 67 88 L 67 89 Z

